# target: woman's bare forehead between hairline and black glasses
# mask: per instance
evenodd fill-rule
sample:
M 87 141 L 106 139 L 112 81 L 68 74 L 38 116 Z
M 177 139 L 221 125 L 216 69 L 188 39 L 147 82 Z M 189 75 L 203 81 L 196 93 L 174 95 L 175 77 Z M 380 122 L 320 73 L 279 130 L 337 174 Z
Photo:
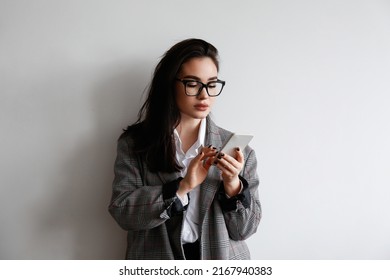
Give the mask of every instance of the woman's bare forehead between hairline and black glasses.
M 218 74 L 217 66 L 210 57 L 196 57 L 183 63 L 181 75 L 193 75 L 199 78 L 209 78 Z

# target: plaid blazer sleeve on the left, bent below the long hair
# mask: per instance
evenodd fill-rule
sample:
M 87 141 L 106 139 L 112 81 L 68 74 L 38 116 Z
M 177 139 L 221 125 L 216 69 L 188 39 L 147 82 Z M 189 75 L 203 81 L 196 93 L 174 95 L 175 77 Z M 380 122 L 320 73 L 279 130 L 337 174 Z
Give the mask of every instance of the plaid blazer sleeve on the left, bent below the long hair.
M 177 187 L 178 180 L 165 185 L 144 185 L 142 170 L 143 162 L 133 152 L 132 139 L 119 138 L 108 210 L 124 230 L 157 227 L 169 219 L 172 213 L 180 211 L 177 208 L 181 203 L 175 191 L 172 191 L 172 188 Z

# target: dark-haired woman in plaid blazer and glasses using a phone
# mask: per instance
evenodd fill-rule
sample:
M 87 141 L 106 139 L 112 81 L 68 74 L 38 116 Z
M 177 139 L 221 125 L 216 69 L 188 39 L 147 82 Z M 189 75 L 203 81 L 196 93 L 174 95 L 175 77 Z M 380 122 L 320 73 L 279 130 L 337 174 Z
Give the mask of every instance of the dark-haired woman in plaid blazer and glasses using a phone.
M 118 140 L 111 215 L 128 259 L 249 259 L 261 218 L 255 152 L 217 154 L 231 132 L 209 117 L 225 82 L 200 39 L 158 63 L 138 121 Z

